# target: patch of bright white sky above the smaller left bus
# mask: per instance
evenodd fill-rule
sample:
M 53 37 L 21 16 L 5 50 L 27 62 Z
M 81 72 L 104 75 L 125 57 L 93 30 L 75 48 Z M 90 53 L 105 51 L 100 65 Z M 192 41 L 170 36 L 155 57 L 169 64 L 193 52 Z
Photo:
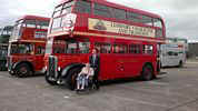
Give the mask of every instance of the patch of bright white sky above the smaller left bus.
M 0 26 L 13 24 L 14 20 L 24 14 L 51 17 L 58 0 L 1 0 Z

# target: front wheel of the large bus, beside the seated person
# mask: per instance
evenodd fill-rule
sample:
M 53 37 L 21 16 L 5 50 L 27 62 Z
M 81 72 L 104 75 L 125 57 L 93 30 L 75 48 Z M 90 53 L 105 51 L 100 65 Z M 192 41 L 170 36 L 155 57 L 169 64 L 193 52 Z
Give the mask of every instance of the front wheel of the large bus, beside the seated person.
M 67 85 L 70 90 L 75 90 L 77 85 L 77 77 L 80 72 L 79 68 L 73 68 L 69 71 L 68 77 L 66 78 Z

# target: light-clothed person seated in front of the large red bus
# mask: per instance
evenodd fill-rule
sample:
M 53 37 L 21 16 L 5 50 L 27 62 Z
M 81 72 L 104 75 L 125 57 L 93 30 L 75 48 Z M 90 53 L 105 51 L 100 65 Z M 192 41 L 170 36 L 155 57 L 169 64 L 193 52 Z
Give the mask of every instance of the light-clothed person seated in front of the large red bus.
M 86 67 L 82 68 L 81 72 L 77 77 L 77 90 L 85 90 L 85 87 L 88 87 L 89 77 L 93 75 L 93 69 L 89 63 L 86 63 Z

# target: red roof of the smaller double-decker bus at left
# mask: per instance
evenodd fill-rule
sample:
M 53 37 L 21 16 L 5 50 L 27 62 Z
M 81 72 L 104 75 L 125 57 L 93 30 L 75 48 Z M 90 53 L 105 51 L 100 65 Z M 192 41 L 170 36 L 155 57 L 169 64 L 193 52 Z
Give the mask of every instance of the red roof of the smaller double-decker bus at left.
M 29 16 L 29 14 L 19 18 L 18 21 L 21 19 L 34 19 L 34 20 L 41 20 L 41 21 L 50 21 L 50 18 L 40 17 L 40 16 Z

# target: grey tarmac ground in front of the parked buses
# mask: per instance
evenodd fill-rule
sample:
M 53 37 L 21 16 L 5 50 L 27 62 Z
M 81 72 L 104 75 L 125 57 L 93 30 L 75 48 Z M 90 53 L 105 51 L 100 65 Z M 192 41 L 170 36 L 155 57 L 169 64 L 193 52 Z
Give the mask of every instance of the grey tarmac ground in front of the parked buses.
M 43 75 L 0 72 L 0 111 L 198 111 L 198 62 L 162 72 L 152 81 L 103 83 L 89 94 L 52 87 Z

